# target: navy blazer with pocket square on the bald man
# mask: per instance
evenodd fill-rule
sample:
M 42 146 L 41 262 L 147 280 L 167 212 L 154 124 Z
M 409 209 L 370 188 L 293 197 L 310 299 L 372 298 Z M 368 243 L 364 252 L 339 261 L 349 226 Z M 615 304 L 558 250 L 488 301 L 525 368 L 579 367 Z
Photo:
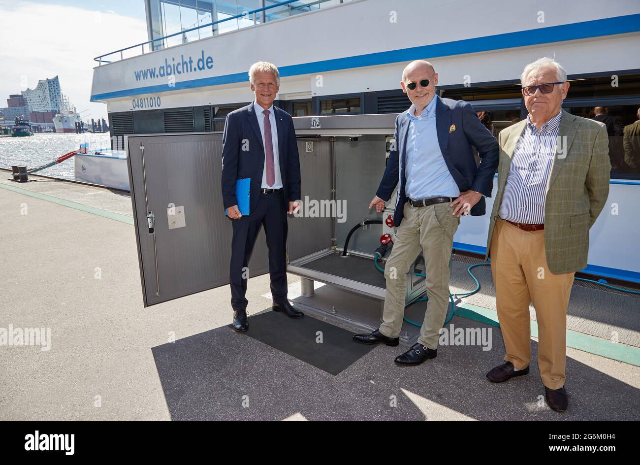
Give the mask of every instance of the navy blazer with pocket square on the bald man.
M 493 190 L 493 175 L 498 169 L 499 148 L 498 141 L 480 122 L 470 103 L 461 100 L 438 99 L 436 102 L 436 133 L 440 151 L 447 168 L 460 192 L 475 190 L 491 197 Z M 404 204 L 408 200 L 404 191 L 406 179 L 406 138 L 409 131 L 409 118 L 403 111 L 396 117 L 395 143 L 389 153 L 387 168 L 380 181 L 376 196 L 388 202 L 394 189 L 400 183 L 396 199 L 394 224 L 400 225 L 404 217 Z M 476 147 L 480 156 L 480 163 L 476 165 L 471 146 Z M 402 154 L 400 157 L 399 154 Z M 486 203 L 484 197 L 473 206 L 470 213 L 473 216 L 484 215 Z

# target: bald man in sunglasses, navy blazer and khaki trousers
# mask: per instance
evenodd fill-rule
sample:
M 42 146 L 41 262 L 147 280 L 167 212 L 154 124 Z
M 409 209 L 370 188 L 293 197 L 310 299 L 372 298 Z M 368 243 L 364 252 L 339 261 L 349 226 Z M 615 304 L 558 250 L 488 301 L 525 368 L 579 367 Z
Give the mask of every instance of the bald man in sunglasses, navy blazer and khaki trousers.
M 371 334 L 356 334 L 361 343 L 396 346 L 404 316 L 406 273 L 422 251 L 429 297 L 418 342 L 396 357 L 417 365 L 436 357 L 439 330 L 449 305 L 449 259 L 460 215 L 484 215 L 499 162 L 495 137 L 467 102 L 436 95 L 438 74 L 428 61 L 407 65 L 400 85 L 412 106 L 396 118 L 394 147 L 376 197 L 369 208 L 380 212 L 396 186 L 397 226 L 385 265 L 387 290 L 383 323 Z M 476 147 L 480 163 L 472 145 Z

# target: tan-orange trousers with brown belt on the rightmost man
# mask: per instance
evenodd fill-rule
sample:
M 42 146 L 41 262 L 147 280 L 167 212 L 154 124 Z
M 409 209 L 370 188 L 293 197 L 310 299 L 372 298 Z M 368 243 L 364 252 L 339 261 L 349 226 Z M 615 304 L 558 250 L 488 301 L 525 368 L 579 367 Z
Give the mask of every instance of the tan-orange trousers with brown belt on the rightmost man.
M 531 359 L 533 302 L 538 322 L 538 368 L 549 389 L 564 386 L 566 307 L 574 273 L 555 275 L 545 256 L 545 232 L 522 231 L 498 217 L 491 239 L 491 272 L 505 361 L 522 370 Z

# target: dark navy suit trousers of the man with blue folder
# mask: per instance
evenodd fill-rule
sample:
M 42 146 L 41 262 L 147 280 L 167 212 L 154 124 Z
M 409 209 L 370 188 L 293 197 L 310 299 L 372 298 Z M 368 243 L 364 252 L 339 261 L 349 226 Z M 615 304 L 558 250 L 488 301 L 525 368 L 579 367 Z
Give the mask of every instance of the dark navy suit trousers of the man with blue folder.
M 262 225 L 269 250 L 271 295 L 273 302 L 284 303 L 287 300 L 287 210 L 283 191 L 260 193 L 258 204 L 250 215 L 231 221 L 234 227 L 229 270 L 231 307 L 245 310 L 249 303 L 244 297 L 247 278 L 252 275 L 248 263 Z

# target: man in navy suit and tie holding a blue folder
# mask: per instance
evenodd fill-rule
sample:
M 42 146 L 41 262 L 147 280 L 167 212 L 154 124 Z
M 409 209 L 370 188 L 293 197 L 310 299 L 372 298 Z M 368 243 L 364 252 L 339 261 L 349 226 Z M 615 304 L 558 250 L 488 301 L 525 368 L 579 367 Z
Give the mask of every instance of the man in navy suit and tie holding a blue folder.
M 269 249 L 273 310 L 302 318 L 287 300 L 287 213 L 300 208 L 300 158 L 291 116 L 273 106 L 280 74 L 271 63 L 259 61 L 249 70 L 255 101 L 227 115 L 222 137 L 222 199 L 233 223 L 229 279 L 232 328 L 246 331 L 244 297 L 248 263 L 255 239 L 264 225 Z M 242 215 L 236 198 L 237 179 L 250 178 L 249 215 Z

